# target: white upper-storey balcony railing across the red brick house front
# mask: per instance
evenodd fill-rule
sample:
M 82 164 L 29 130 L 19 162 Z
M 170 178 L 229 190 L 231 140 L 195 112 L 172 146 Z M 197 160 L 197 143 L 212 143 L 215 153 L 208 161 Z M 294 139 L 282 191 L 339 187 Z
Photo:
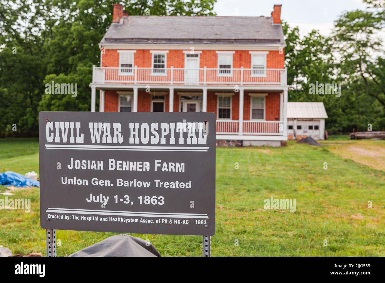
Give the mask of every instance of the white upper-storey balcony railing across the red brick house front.
M 171 85 L 286 85 L 286 69 L 93 67 L 94 83 Z

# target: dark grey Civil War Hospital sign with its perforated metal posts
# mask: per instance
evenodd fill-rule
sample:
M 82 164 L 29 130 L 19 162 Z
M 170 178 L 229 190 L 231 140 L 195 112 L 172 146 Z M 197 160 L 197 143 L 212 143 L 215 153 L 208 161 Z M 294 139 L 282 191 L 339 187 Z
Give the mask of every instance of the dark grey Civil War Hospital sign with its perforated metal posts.
M 55 229 L 215 234 L 215 114 L 40 112 L 40 224 Z

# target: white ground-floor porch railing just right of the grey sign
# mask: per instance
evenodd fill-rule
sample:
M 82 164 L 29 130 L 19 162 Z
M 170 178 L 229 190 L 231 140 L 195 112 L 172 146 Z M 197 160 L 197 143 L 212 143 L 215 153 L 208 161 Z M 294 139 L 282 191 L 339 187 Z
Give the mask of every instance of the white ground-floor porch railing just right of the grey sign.
M 239 121 L 216 120 L 216 134 L 238 135 Z M 244 135 L 283 135 L 282 121 L 243 121 Z

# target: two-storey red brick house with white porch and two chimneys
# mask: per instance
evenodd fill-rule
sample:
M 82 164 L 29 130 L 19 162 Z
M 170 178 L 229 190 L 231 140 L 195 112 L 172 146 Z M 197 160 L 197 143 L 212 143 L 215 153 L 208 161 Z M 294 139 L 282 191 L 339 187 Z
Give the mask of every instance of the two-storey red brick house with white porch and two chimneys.
M 114 4 L 91 111 L 214 112 L 216 139 L 287 140 L 281 5 L 271 17 L 129 16 Z

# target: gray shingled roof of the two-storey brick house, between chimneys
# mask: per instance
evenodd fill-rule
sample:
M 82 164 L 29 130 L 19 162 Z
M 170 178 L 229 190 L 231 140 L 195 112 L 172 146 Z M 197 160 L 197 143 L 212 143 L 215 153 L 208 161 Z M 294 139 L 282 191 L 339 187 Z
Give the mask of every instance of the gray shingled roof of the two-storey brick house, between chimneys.
M 103 43 L 282 44 L 271 17 L 129 16 L 112 23 Z

